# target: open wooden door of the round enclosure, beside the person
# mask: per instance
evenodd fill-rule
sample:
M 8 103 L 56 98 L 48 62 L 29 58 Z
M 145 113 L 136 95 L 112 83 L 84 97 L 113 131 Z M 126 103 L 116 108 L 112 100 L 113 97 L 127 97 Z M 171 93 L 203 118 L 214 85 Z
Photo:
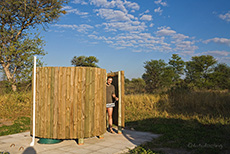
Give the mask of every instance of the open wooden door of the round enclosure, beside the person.
M 125 127 L 125 79 L 124 71 L 107 73 L 107 77 L 113 77 L 112 85 L 115 87 L 116 96 L 119 98 L 113 110 L 113 124 L 118 126 L 118 133 L 121 133 L 121 128 Z

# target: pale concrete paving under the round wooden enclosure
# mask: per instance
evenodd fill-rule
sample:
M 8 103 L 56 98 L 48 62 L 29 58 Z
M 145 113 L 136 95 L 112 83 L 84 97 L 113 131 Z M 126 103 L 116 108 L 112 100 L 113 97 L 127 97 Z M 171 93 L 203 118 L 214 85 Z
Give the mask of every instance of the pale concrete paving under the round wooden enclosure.
M 30 147 L 32 137 L 29 132 L 0 137 L 0 153 L 11 154 L 120 154 L 128 152 L 144 142 L 151 141 L 159 135 L 148 132 L 122 130 L 122 134 L 106 132 L 104 139 L 97 137 L 84 139 L 84 145 L 78 145 L 75 140 L 64 140 L 57 144 L 39 144 Z

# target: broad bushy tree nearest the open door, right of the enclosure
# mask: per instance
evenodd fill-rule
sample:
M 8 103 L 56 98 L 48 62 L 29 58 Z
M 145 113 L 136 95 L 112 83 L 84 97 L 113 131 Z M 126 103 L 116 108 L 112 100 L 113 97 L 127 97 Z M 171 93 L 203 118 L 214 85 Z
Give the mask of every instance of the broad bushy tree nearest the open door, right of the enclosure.
M 146 83 L 147 92 L 152 93 L 154 90 L 159 90 L 172 84 L 174 73 L 164 60 L 151 60 L 144 64 L 145 73 L 142 78 Z

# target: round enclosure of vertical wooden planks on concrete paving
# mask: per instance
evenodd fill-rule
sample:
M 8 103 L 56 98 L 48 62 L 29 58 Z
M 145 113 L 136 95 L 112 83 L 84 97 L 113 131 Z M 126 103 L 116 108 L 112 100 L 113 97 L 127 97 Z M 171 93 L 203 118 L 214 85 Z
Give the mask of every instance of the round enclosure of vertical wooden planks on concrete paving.
M 37 67 L 35 136 L 83 139 L 103 135 L 106 132 L 106 78 L 106 70 L 95 67 Z M 118 104 L 123 100 L 121 92 L 120 97 Z M 117 106 L 124 112 L 124 105 Z M 124 127 L 124 113 L 116 113 L 114 121 L 119 121 L 120 129 Z M 31 124 L 32 121 L 31 118 Z M 32 127 L 30 134 L 33 134 Z

